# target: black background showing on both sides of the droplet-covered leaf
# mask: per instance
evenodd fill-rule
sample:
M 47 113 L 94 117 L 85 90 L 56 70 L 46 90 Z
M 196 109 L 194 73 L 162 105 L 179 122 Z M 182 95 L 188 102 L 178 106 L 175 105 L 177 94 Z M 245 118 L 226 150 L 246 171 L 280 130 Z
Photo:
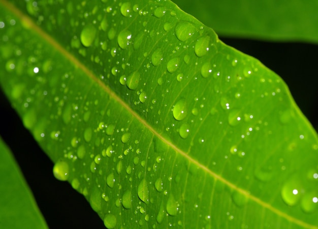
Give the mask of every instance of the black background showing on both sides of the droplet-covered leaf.
M 318 127 L 318 46 L 220 38 L 280 75 L 314 127 Z M 105 228 L 84 197 L 53 177 L 53 163 L 23 127 L 0 90 L 0 135 L 13 151 L 50 228 Z

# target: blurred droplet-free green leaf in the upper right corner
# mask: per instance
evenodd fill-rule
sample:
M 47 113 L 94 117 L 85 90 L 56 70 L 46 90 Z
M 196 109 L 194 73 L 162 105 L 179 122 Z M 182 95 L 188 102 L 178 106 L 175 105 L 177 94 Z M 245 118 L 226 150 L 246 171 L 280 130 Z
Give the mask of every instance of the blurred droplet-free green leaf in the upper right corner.
M 316 1 L 174 0 L 218 35 L 270 41 L 318 42 Z

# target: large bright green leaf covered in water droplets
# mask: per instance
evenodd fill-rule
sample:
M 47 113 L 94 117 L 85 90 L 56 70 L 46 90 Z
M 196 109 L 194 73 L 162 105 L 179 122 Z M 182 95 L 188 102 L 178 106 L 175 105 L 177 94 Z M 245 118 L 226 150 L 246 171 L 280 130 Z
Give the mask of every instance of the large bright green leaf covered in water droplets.
M 108 228 L 317 228 L 287 86 L 170 1 L 1 1 L 1 84 Z

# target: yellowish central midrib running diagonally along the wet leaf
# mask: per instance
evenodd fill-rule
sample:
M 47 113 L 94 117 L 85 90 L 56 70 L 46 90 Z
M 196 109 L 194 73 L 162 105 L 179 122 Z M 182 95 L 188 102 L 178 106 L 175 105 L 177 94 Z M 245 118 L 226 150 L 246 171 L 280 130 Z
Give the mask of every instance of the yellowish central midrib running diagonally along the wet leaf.
M 249 198 L 250 200 L 258 203 L 259 205 L 263 206 L 264 208 L 269 209 L 270 211 L 276 213 L 277 215 L 294 222 L 300 226 L 307 227 L 307 228 L 315 228 L 318 229 L 317 226 L 308 224 L 304 221 L 301 221 L 297 218 L 294 218 L 284 212 L 281 212 L 280 210 L 272 207 L 268 203 L 263 202 L 259 198 L 255 197 L 254 195 L 251 195 L 248 193 L 248 191 L 237 187 L 230 181 L 224 179 L 223 177 L 219 176 L 218 174 L 212 172 L 209 168 L 202 165 L 199 161 L 195 160 L 194 158 L 190 157 L 186 152 L 183 152 L 181 149 L 179 149 L 177 146 L 169 142 L 167 139 L 165 139 L 163 136 L 161 136 L 151 125 L 149 125 L 146 120 L 141 118 L 132 108 L 128 106 L 110 87 L 105 85 L 98 77 L 96 77 L 91 71 L 89 71 L 75 56 L 73 56 L 70 52 L 68 52 L 66 49 L 64 49 L 59 43 L 57 43 L 51 36 L 49 36 L 42 28 L 40 28 L 38 25 L 36 25 L 28 16 L 24 15 L 20 10 L 18 10 L 15 6 L 13 6 L 11 3 L 9 3 L 7 0 L 0 0 L 0 2 L 12 13 L 14 13 L 18 18 L 20 18 L 23 23 L 28 25 L 28 28 L 33 29 L 38 33 L 40 37 L 42 37 L 47 43 L 52 45 L 56 50 L 58 50 L 66 59 L 68 59 L 71 63 L 73 63 L 75 66 L 77 66 L 79 69 L 81 69 L 89 78 L 91 78 L 93 81 L 95 81 L 103 90 L 112 97 L 115 101 L 117 101 L 126 111 L 131 113 L 140 123 L 142 123 L 150 132 L 153 133 L 157 138 L 162 140 L 165 144 L 167 144 L 169 147 L 171 147 L 173 150 L 175 150 L 177 153 L 185 157 L 190 162 L 194 163 L 197 167 L 205 171 L 207 174 L 209 174 L 214 179 L 217 179 L 221 181 L 222 183 L 228 185 L 232 189 L 238 191 L 245 197 Z

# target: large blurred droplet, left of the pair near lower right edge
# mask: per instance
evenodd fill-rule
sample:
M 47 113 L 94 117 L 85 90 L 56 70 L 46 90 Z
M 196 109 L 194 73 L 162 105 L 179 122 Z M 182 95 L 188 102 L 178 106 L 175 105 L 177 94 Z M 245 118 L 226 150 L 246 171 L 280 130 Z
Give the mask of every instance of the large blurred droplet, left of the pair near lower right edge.
M 290 178 L 286 181 L 281 189 L 281 197 L 283 201 L 289 205 L 294 206 L 300 200 L 302 193 L 302 183 L 297 177 Z

